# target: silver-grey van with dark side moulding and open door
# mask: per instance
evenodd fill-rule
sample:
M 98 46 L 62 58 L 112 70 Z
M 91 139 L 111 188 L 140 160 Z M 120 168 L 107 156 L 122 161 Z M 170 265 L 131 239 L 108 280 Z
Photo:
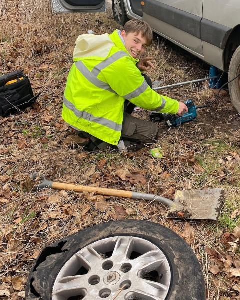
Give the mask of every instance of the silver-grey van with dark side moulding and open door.
M 102 12 L 105 0 L 52 0 L 54 12 Z M 115 20 L 143 19 L 159 35 L 228 73 L 240 72 L 239 0 L 112 0 Z M 229 84 L 240 113 L 240 77 Z

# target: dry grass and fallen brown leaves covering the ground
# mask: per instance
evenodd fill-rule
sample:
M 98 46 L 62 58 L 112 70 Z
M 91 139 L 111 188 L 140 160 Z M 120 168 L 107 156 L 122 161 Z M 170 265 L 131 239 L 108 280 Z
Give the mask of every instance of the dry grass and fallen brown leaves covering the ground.
M 213 107 L 199 111 L 197 122 L 178 129 L 159 124 L 159 141 L 153 147 L 161 146 L 163 159 L 153 158 L 148 148 L 126 155 L 71 151 L 62 145 L 72 131 L 60 115 L 74 42 L 89 29 L 101 34 L 118 28 L 110 10 L 107 14 L 54 15 L 49 1 L 1 0 L 0 17 L 0 73 L 23 69 L 34 92 L 42 92 L 34 109 L 0 119 L 0 289 L 9 290 L 11 299 L 20 299 L 17 293 L 24 290 L 32 263 L 46 245 L 93 224 L 133 218 L 163 224 L 187 240 L 203 267 L 207 299 L 237 299 L 239 281 L 223 265 L 226 255 L 239 259 L 228 247 L 233 229 L 239 226 L 239 217 L 231 214 L 240 205 L 240 124 L 229 97 L 222 96 Z M 162 40 L 155 41 L 147 55 L 156 66 L 149 75 L 153 80 L 163 79 L 164 85 L 207 74 L 205 65 L 179 56 L 175 47 Z M 181 100 L 193 98 L 196 104 L 214 97 L 205 83 L 162 93 Z M 147 119 L 148 113 L 138 116 Z M 147 183 L 122 179 L 126 170 Z M 166 219 L 166 209 L 155 203 L 49 189 L 27 192 L 25 181 L 30 184 L 33 171 L 60 182 L 169 198 L 176 189 L 222 187 L 226 202 L 218 222 L 190 222 L 188 226 Z M 218 251 L 219 257 L 207 249 Z M 213 275 L 210 267 L 215 264 L 220 265 L 220 272 Z M 20 282 L 18 286 L 14 280 Z

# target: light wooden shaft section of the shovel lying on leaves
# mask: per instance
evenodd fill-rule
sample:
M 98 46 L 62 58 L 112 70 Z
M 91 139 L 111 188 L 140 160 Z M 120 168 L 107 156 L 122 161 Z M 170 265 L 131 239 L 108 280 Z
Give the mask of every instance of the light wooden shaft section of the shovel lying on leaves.
M 127 191 L 127 190 L 117 190 L 117 189 L 110 189 L 110 188 L 84 186 L 84 185 L 76 185 L 76 184 L 60 183 L 60 182 L 52 182 L 51 188 L 74 190 L 80 192 L 87 191 L 87 192 L 95 192 L 97 194 L 101 194 L 105 196 L 116 196 L 122 198 L 130 198 L 130 199 L 132 198 L 132 191 Z

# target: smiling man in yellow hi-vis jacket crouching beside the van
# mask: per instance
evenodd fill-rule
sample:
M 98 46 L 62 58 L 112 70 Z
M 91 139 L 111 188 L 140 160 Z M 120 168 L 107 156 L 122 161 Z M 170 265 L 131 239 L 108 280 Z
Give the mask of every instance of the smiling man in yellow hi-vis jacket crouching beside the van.
M 158 128 L 131 116 L 134 105 L 178 115 L 188 111 L 184 103 L 151 89 L 150 78 L 141 73 L 154 68 L 150 57 L 138 59 L 151 42 L 151 28 L 137 19 L 110 35 L 78 36 L 62 109 L 65 122 L 81 137 L 78 144 L 88 150 L 139 149 L 156 140 Z

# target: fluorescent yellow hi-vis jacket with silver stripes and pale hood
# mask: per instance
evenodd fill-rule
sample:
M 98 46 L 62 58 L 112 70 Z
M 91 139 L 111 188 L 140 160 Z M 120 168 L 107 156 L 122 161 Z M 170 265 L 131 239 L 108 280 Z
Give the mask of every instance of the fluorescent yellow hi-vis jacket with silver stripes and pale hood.
M 63 119 L 113 145 L 121 136 L 124 101 L 148 110 L 175 114 L 179 102 L 161 96 L 146 83 L 139 61 L 130 56 L 118 31 L 78 36 L 74 63 L 63 97 Z

